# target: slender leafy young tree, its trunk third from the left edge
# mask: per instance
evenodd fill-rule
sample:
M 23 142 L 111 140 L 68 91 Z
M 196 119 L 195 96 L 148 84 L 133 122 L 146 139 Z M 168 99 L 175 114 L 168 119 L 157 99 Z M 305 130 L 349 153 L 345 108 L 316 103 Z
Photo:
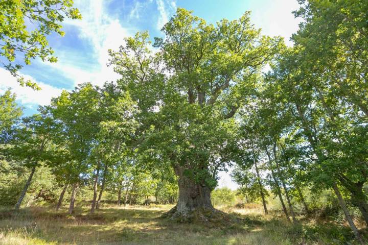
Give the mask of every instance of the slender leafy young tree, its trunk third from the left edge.
M 61 125 L 63 132 L 59 142 L 67 152 L 64 172 L 73 186 L 70 213 L 73 213 L 75 197 L 82 184 L 82 178 L 88 178 L 87 171 L 91 153 L 97 142 L 101 115 L 98 107 L 100 94 L 91 84 L 81 84 L 72 92 L 63 91 L 52 100 L 49 110 L 53 118 Z

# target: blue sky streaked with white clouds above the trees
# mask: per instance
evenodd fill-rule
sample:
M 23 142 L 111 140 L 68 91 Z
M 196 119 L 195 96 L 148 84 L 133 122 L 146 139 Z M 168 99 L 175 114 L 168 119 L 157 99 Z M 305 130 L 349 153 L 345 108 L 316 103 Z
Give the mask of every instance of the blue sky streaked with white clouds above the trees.
M 36 113 L 38 105 L 47 105 L 63 89 L 92 82 L 101 85 L 119 78 L 107 67 L 107 50 L 117 50 L 123 38 L 137 31 L 148 30 L 151 38 L 162 36 L 160 29 L 175 13 L 177 7 L 192 10 L 194 15 L 216 23 L 222 18 L 239 18 L 251 11 L 251 20 L 265 35 L 280 35 L 288 45 L 300 20 L 294 19 L 296 0 L 75 0 L 82 20 L 66 20 L 64 37 L 49 36 L 49 43 L 58 57 L 57 63 L 34 60 L 21 73 L 37 82 L 42 90 L 20 87 L 9 72 L 0 68 L 0 93 L 11 88 L 25 114 Z M 222 174 L 220 185 L 234 188 L 227 174 Z

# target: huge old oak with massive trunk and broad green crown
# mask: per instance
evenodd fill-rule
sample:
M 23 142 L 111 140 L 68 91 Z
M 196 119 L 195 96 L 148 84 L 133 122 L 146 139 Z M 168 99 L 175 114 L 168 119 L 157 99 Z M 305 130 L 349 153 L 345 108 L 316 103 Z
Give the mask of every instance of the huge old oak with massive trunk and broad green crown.
M 178 9 L 155 38 L 126 38 L 110 64 L 142 110 L 141 151 L 168 163 L 178 177 L 173 216 L 211 209 L 217 172 L 236 160 L 237 109 L 249 99 L 261 69 L 278 52 L 279 38 L 262 36 L 249 12 L 216 25 Z

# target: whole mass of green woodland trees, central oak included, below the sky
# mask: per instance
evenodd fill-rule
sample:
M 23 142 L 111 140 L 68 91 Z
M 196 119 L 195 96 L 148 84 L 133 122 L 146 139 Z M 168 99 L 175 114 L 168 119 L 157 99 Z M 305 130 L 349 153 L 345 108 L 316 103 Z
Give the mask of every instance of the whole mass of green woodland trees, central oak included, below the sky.
M 80 84 L 22 118 L 6 91 L 1 204 L 59 208 L 66 193 L 70 213 L 78 195 L 95 212 L 107 193 L 118 205 L 177 201 L 172 217 L 188 218 L 238 199 L 268 215 L 273 199 L 295 225 L 343 214 L 363 243 L 353 218 L 368 225 L 368 2 L 299 2 L 293 47 L 248 12 L 213 25 L 179 8 L 153 46 L 142 32 L 109 51 L 116 83 Z M 232 165 L 238 190 L 215 189 Z

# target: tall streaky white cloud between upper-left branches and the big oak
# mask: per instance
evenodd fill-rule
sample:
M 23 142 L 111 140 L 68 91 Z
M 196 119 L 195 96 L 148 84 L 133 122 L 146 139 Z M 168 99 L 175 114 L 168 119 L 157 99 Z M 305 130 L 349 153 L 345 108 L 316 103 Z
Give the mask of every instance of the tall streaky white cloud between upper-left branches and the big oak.
M 63 56 L 57 63 L 48 63 L 48 65 L 73 80 L 74 85 L 83 82 L 102 85 L 106 81 L 116 81 L 120 76 L 113 71 L 112 67 L 106 66 L 109 59 L 107 51 L 118 50 L 123 44 L 123 38 L 131 34 L 122 26 L 118 17 L 111 16 L 107 12 L 106 2 L 103 0 L 78 0 L 75 1 L 74 6 L 81 12 L 82 19 L 67 19 L 64 24 L 78 28 L 79 37 L 92 44 L 93 49 L 90 52 L 96 57 L 99 66 L 93 71 L 79 68 L 79 64 L 74 65 L 67 57 L 63 59 Z M 56 56 L 58 56 L 57 53 Z

